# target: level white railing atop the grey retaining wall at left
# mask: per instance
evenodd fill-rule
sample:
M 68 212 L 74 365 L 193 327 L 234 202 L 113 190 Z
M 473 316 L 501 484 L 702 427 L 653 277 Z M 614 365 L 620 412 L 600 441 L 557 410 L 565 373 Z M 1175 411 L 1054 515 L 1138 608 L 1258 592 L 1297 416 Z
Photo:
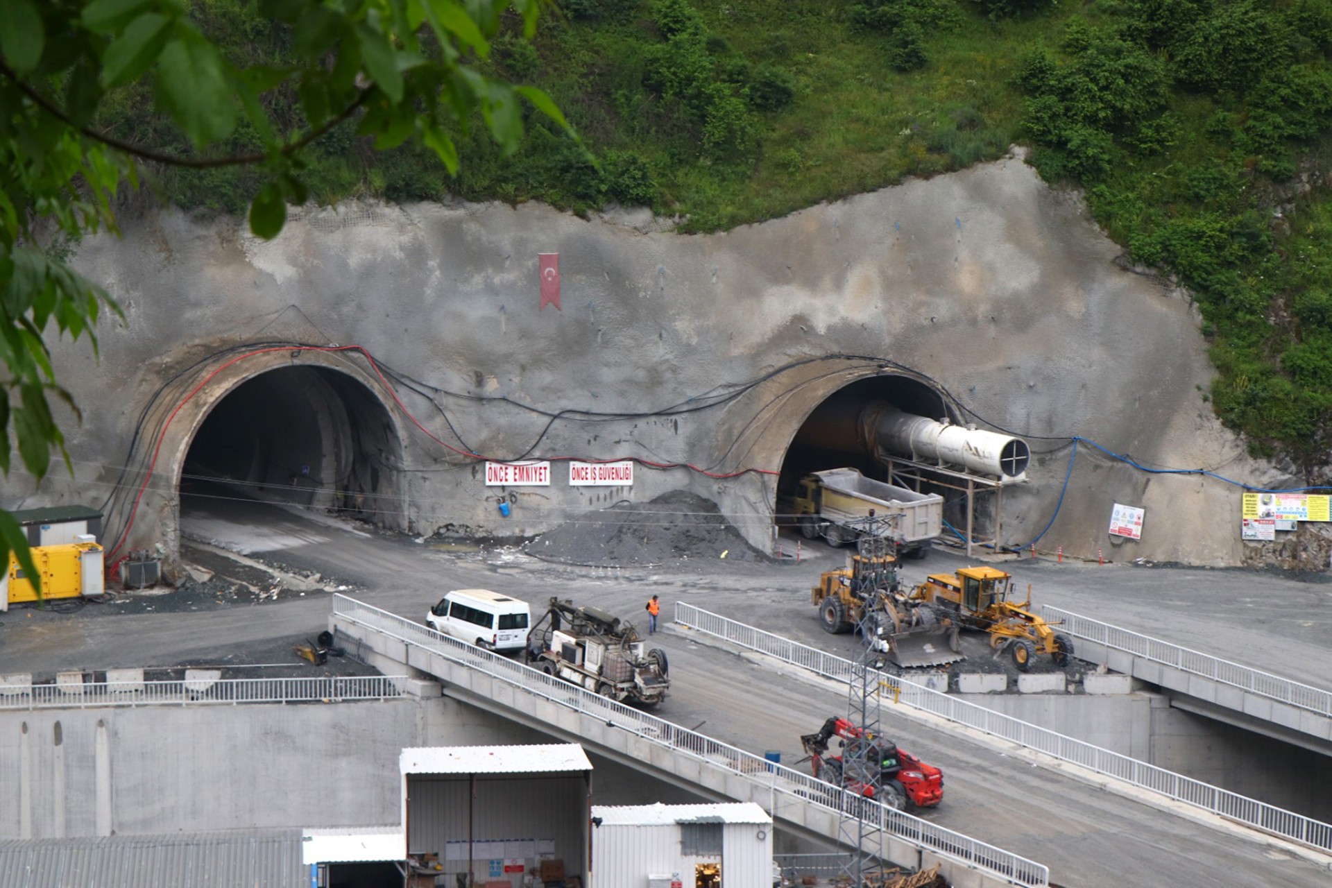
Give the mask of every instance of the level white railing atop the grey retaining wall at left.
M 402 696 L 404 675 L 266 679 L 84 682 L 0 687 L 0 710 L 68 710 L 101 706 L 197 706 L 210 703 L 336 703 Z

